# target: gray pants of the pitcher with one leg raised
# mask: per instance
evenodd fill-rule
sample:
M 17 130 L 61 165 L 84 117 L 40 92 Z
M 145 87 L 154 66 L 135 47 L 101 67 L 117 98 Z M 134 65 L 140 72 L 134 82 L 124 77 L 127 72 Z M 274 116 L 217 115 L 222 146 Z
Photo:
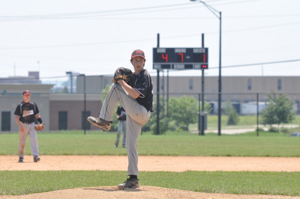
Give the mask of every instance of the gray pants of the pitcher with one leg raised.
M 127 175 L 138 175 L 137 137 L 144 125 L 150 118 L 150 111 L 137 103 L 124 88 L 118 83 L 112 83 L 100 111 L 100 118 L 112 121 L 112 115 L 117 102 L 126 111 L 126 147 L 128 154 Z

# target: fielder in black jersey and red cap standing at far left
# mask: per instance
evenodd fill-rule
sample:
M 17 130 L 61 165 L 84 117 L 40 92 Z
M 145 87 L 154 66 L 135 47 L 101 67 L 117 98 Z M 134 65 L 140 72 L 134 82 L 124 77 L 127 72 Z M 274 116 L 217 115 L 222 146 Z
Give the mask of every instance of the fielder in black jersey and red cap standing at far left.
M 40 160 L 38 156 L 39 151 L 37 145 L 37 133 L 34 128 L 34 117 L 39 123 L 43 124 L 43 122 L 40 118 L 38 107 L 35 103 L 30 101 L 30 96 L 31 92 L 29 90 L 24 90 L 22 94 L 23 101 L 16 106 L 16 109 L 14 111 L 14 119 L 19 127 L 19 162 L 23 162 L 25 143 L 28 134 L 30 136 L 33 161 L 37 162 Z

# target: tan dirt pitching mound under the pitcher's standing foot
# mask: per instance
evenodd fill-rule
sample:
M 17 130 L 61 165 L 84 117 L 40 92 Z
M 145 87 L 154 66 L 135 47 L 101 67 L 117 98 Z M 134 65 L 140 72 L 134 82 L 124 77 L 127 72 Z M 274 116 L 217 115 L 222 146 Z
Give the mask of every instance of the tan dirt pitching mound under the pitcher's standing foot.
M 118 190 L 116 187 L 112 186 L 97 186 L 97 187 L 85 187 L 85 188 L 73 188 L 65 190 L 56 190 L 44 193 L 35 193 L 28 195 L 0 195 L 0 198 L 9 199 L 52 199 L 52 198 L 84 198 L 84 199 L 94 199 L 94 198 L 105 198 L 105 199 L 115 199 L 115 198 L 143 198 L 143 199 L 194 199 L 194 198 L 268 198 L 268 199 L 295 199 L 300 197 L 282 196 L 282 195 L 234 195 L 234 194 L 221 194 L 221 193 L 202 193 L 193 192 L 187 190 L 178 190 L 171 188 L 160 188 L 155 186 L 141 186 L 137 189 L 125 189 Z

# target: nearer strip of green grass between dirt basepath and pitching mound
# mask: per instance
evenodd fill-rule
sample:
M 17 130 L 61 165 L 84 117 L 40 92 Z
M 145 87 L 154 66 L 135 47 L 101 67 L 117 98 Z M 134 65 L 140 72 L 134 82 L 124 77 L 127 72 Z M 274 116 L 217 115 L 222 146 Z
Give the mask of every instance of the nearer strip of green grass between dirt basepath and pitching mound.
M 116 186 L 124 181 L 123 176 L 126 176 L 125 171 L 0 171 L 0 194 Z M 300 195 L 300 172 L 164 171 L 141 172 L 139 178 L 141 185 L 200 192 Z

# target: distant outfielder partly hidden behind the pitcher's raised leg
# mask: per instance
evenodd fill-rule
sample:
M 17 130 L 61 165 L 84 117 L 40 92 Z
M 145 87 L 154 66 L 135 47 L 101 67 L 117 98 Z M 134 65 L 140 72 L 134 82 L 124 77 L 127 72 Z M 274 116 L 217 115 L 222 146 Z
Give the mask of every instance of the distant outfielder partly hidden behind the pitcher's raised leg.
M 122 146 L 125 148 L 126 147 L 126 111 L 121 105 L 117 107 L 116 118 L 117 118 L 117 133 L 116 133 L 116 140 L 114 143 L 114 147 L 116 148 L 118 146 L 121 133 L 123 132 Z

